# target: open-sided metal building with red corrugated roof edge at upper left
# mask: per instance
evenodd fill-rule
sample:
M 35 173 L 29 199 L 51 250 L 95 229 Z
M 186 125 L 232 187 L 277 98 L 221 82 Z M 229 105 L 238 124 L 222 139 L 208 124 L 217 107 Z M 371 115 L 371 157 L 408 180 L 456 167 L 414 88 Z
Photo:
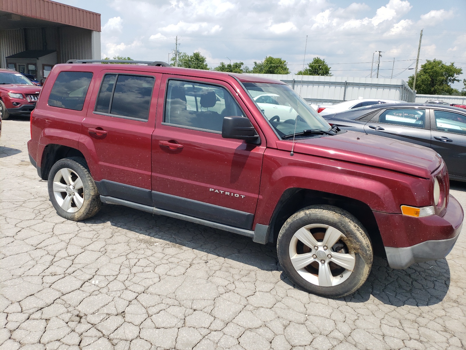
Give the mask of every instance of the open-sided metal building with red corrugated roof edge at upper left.
M 0 0 L 0 68 L 45 79 L 69 59 L 100 59 L 100 14 L 50 0 Z

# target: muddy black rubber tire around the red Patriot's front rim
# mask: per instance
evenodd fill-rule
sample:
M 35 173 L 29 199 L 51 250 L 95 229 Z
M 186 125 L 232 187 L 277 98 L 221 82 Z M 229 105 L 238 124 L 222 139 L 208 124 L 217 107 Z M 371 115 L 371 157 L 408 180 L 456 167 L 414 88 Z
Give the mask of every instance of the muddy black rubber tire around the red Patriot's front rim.
M 347 245 L 350 252 L 354 253 L 354 268 L 352 272 L 348 271 L 350 272 L 349 277 L 340 284 L 322 287 L 311 283 L 297 272 L 291 262 L 290 243 L 292 239 L 296 239 L 294 238 L 295 233 L 312 224 L 323 224 L 336 228 L 345 236 L 341 241 Z M 363 225 L 346 210 L 331 205 L 311 205 L 289 217 L 278 235 L 277 254 L 283 272 L 297 287 L 309 293 L 329 298 L 339 298 L 352 294 L 361 287 L 369 276 L 373 259 L 370 238 Z M 305 269 L 308 269 L 308 266 Z

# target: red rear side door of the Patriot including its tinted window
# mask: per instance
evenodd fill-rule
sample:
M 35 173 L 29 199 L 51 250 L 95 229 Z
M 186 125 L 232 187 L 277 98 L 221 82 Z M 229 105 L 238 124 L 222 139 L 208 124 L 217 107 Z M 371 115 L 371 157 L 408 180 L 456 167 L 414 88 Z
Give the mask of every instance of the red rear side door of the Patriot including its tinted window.
M 103 196 L 152 205 L 151 135 L 161 77 L 111 69 L 97 77 L 80 143 L 98 165 L 93 176 Z

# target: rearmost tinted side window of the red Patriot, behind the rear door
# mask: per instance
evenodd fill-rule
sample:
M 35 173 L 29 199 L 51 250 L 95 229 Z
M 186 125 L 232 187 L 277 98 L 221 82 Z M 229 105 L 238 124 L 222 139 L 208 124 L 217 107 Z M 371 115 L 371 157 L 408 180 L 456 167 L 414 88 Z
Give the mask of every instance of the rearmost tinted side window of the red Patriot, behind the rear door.
M 48 97 L 48 105 L 82 111 L 91 79 L 90 72 L 61 72 Z

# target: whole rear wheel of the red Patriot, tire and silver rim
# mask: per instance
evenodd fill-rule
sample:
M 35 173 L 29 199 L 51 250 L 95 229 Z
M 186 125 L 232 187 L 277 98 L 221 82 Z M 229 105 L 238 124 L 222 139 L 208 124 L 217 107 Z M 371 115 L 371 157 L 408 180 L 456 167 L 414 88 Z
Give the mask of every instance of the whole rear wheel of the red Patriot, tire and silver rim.
M 102 206 L 96 183 L 81 157 L 54 164 L 48 174 L 48 195 L 58 215 L 68 220 L 93 217 Z

